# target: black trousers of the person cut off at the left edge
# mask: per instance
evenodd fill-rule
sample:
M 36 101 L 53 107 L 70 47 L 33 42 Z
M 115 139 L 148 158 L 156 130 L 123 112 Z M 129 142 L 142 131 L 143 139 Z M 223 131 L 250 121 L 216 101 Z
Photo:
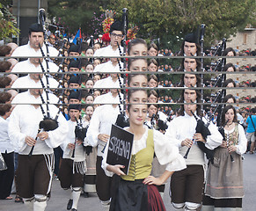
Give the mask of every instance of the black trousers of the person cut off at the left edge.
M 0 171 L 0 200 L 4 200 L 11 194 L 11 186 L 14 178 L 14 153 L 2 153 L 7 170 Z

